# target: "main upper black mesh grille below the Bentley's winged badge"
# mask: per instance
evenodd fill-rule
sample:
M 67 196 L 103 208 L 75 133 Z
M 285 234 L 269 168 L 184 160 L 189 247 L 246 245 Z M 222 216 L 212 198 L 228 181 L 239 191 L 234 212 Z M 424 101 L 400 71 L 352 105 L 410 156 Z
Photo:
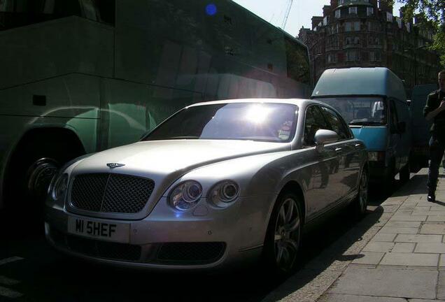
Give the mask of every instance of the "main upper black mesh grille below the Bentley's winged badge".
M 81 174 L 74 178 L 71 206 L 101 213 L 138 213 L 155 187 L 149 178 L 114 173 Z

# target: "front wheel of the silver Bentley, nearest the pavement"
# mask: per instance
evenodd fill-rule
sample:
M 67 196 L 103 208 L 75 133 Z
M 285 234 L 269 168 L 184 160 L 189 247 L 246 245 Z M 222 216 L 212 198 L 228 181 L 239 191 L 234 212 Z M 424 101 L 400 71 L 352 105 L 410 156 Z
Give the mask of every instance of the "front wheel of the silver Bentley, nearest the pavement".
M 264 240 L 267 270 L 278 276 L 292 273 L 302 240 L 301 201 L 292 193 L 280 194 L 272 210 Z

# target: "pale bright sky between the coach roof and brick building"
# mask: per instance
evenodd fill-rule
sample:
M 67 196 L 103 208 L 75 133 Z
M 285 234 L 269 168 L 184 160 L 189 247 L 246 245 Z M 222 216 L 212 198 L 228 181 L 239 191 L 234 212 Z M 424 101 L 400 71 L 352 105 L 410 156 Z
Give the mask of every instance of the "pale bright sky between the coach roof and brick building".
M 285 17 L 285 10 L 290 0 L 233 0 L 247 8 L 255 15 L 267 22 L 281 27 Z M 293 0 L 292 8 L 285 25 L 285 31 L 292 36 L 298 36 L 299 29 L 304 26 L 311 28 L 311 18 L 314 15 L 323 15 L 323 6 L 329 5 L 330 0 Z M 399 16 L 400 3 L 395 1 L 393 15 Z

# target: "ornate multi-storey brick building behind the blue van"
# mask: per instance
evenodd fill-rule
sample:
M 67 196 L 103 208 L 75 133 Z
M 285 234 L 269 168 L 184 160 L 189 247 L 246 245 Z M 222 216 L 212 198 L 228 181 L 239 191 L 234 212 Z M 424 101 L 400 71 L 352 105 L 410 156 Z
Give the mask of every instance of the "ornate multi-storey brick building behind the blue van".
M 394 17 L 386 0 L 331 0 L 297 38 L 308 45 L 314 81 L 325 69 L 384 66 L 410 90 L 437 82 L 440 69 L 439 56 L 425 48 L 432 31 L 420 22 Z

